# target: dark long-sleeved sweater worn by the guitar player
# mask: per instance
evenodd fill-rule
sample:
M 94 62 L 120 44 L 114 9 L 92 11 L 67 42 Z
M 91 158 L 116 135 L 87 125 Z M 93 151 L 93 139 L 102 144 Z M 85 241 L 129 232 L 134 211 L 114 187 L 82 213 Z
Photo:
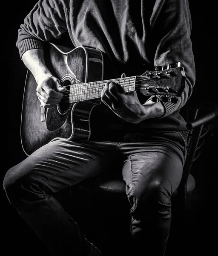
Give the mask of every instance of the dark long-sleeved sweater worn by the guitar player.
M 127 76 L 181 62 L 186 75 L 184 91 L 177 104 L 162 103 L 165 113 L 161 118 L 132 124 L 103 104 L 94 112 L 103 109 L 107 114 L 102 122 L 125 131 L 186 130 L 179 110 L 195 84 L 188 0 L 40 0 L 18 30 L 20 56 L 29 49 L 44 49 L 45 42 L 61 38 L 64 32 L 69 33 L 72 47 L 100 49 Z

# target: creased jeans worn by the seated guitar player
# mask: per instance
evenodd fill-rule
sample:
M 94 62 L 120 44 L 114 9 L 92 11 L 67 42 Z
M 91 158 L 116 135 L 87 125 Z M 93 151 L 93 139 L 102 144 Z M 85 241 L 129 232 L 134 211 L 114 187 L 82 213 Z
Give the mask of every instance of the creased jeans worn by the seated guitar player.
M 149 256 L 149 251 L 164 255 L 171 195 L 183 172 L 184 139 L 178 132 L 113 137 L 115 141 L 110 135 L 105 141 L 55 140 L 6 173 L 3 188 L 10 203 L 52 255 L 86 255 L 80 228 L 53 194 L 107 172 L 118 163 L 123 166 L 120 172 L 131 206 L 132 239 L 138 248 L 143 247 L 142 255 Z

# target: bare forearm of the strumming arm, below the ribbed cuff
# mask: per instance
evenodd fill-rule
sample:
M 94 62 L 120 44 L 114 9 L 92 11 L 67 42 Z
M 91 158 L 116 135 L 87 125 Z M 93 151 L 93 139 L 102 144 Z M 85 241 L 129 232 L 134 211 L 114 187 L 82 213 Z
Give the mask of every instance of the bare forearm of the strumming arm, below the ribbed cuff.
M 46 67 L 44 51 L 42 49 L 30 49 L 24 52 L 22 60 L 25 66 L 33 74 L 37 83 L 42 76 L 52 76 L 51 72 Z

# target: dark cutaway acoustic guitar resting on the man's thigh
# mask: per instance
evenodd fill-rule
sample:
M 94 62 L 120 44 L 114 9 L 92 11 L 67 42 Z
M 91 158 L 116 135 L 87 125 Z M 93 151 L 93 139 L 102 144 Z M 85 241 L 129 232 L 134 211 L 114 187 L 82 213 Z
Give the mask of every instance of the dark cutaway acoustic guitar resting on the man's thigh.
M 144 95 L 164 95 L 162 101 L 175 102 L 184 90 L 184 68 L 178 62 L 164 70 L 156 67 L 141 76 L 103 80 L 104 59 L 99 49 L 68 47 L 49 43 L 46 65 L 67 90 L 54 108 L 41 108 L 36 96 L 37 83 L 32 73 L 26 74 L 21 116 L 21 143 L 27 155 L 46 143 L 58 140 L 89 140 L 93 108 L 100 104 L 106 82 L 114 81 L 121 93 L 140 91 Z

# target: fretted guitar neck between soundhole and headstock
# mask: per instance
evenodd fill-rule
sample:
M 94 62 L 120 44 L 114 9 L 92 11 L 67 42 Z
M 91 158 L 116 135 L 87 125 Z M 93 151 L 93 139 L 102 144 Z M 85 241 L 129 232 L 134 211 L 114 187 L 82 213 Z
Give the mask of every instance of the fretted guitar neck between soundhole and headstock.
M 135 91 L 136 76 L 124 77 L 119 79 L 110 79 L 103 81 L 95 81 L 83 84 L 70 85 L 69 103 L 81 102 L 91 99 L 98 99 L 106 82 L 115 82 L 119 84 L 121 93 L 129 93 Z

